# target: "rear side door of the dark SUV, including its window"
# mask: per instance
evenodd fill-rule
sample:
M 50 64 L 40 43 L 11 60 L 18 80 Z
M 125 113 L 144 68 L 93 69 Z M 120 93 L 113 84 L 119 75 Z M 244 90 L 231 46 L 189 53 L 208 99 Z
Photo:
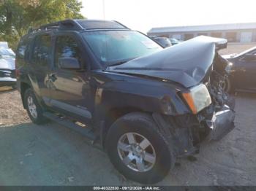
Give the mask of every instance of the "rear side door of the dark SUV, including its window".
M 34 92 L 45 101 L 49 98 L 48 72 L 53 55 L 53 44 L 50 34 L 42 34 L 34 39 L 29 66 L 29 79 Z

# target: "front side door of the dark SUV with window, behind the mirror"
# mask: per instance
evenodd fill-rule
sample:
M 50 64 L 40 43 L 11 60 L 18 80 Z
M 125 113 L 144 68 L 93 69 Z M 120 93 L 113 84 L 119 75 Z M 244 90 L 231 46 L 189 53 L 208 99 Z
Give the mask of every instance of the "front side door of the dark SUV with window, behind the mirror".
M 54 66 L 49 73 L 50 105 L 75 119 L 91 122 L 93 101 L 83 48 L 73 35 L 56 36 L 55 42 Z M 77 59 L 80 69 L 61 69 L 60 58 Z

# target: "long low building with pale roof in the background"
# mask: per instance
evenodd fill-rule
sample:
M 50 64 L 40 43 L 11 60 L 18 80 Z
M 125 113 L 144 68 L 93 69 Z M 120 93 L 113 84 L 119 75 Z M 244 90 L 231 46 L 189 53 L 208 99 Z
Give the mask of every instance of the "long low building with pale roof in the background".
M 222 37 L 228 42 L 256 42 L 256 23 L 158 27 L 148 31 L 148 36 L 166 36 L 181 40 L 200 35 Z

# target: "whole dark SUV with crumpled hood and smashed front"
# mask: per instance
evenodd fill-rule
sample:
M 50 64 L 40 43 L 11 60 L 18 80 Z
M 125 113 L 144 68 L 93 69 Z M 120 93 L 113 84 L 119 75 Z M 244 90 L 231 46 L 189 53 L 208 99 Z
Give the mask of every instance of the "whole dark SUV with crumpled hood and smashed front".
M 163 49 L 116 21 L 64 20 L 20 40 L 18 90 L 33 122 L 77 130 L 127 178 L 159 182 L 176 158 L 234 128 L 219 86 L 226 43 L 200 36 Z

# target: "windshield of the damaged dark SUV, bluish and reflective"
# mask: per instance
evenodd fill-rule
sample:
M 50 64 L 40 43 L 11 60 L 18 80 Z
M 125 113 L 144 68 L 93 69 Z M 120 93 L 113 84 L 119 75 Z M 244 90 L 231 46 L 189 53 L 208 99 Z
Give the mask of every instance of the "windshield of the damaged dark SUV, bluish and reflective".
M 83 38 L 105 66 L 162 50 L 159 44 L 136 31 L 90 31 L 83 33 Z

